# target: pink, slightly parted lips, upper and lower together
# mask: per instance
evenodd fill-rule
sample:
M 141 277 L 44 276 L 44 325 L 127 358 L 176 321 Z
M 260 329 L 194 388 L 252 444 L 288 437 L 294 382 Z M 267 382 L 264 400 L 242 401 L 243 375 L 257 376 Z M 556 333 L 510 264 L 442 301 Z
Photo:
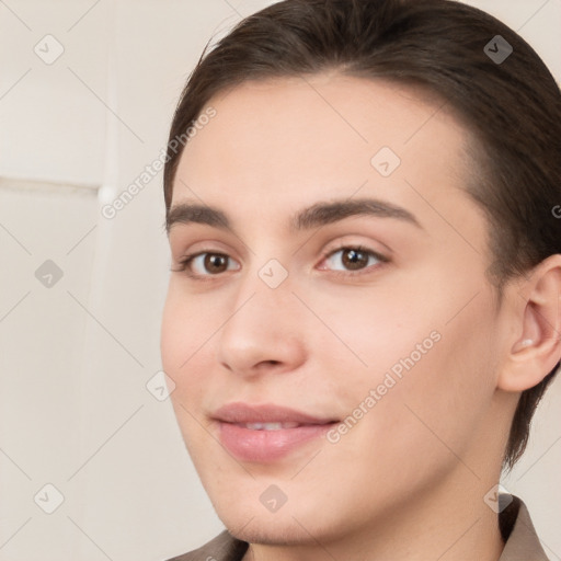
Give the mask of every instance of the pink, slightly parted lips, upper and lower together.
M 275 404 L 229 403 L 213 417 L 222 445 L 239 460 L 272 462 L 324 435 L 337 421 Z

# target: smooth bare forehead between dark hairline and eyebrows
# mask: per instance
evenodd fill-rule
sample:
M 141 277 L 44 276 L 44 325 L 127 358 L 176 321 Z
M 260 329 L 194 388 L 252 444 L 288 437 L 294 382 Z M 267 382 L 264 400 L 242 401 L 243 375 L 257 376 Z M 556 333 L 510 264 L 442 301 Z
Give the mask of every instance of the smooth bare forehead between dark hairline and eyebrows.
M 182 153 L 172 206 L 199 198 L 274 220 L 356 194 L 404 207 L 425 199 L 423 213 L 443 196 L 469 205 L 468 133 L 425 90 L 332 72 L 244 82 L 208 106 L 216 116 Z

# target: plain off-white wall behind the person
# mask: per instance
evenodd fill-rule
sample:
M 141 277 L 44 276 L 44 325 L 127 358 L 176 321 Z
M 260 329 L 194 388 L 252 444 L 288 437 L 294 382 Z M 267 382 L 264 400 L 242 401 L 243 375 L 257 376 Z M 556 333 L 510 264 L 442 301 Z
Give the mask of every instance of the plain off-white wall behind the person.
M 0 0 L 1 561 L 156 561 L 222 528 L 169 400 L 147 389 L 169 270 L 161 173 L 114 218 L 101 208 L 160 157 L 207 39 L 268 3 Z M 470 3 L 561 77 L 561 0 Z M 558 379 L 504 481 L 552 560 L 560 420 Z

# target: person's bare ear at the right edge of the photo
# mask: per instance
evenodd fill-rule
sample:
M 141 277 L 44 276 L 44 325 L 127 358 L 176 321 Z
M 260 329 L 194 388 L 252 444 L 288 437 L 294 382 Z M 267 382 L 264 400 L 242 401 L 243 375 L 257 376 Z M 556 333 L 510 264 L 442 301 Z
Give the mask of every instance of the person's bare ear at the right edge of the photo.
M 537 265 L 511 295 L 516 329 L 497 388 L 524 391 L 537 386 L 561 358 L 561 254 Z

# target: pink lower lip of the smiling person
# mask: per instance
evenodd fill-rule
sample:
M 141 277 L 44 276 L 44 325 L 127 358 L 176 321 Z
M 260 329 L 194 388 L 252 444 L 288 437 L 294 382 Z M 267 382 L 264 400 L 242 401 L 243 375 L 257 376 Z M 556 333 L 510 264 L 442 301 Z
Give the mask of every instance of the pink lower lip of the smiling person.
M 232 423 L 219 422 L 220 442 L 239 460 L 268 462 L 278 460 L 305 443 L 323 436 L 335 424 L 252 431 Z

